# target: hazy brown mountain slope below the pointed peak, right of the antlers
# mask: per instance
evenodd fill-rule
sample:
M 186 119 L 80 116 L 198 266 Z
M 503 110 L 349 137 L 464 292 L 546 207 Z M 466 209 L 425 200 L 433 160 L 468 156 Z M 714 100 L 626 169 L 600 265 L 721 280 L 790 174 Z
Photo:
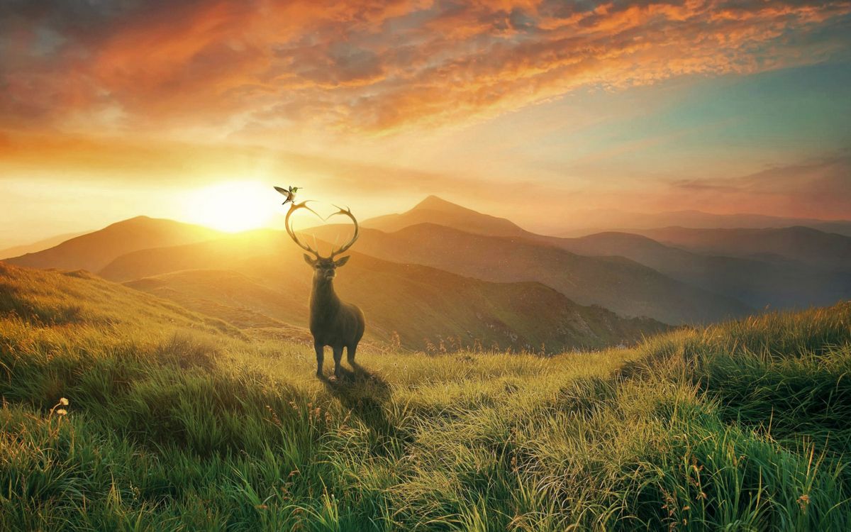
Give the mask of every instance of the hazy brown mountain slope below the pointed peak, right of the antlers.
M 317 236 L 334 230 L 325 226 L 317 230 Z M 576 255 L 527 237 L 491 237 L 420 224 L 392 233 L 362 229 L 357 249 L 385 260 L 487 281 L 535 281 L 581 305 L 599 305 L 620 315 L 648 316 L 665 323 L 716 321 L 753 310 L 623 257 Z

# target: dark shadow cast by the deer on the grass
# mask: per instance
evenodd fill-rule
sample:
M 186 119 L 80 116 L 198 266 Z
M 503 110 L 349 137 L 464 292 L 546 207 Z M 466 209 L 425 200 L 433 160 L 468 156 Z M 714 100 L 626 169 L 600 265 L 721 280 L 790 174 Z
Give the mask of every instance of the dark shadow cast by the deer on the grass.
M 323 376 L 323 385 L 345 409 L 351 411 L 351 415 L 368 427 L 370 452 L 388 455 L 409 439 L 387 416 L 386 405 L 390 404 L 391 387 L 380 375 L 359 363 L 351 363 L 351 367 L 353 370 L 341 368 L 341 378 L 337 380 Z

